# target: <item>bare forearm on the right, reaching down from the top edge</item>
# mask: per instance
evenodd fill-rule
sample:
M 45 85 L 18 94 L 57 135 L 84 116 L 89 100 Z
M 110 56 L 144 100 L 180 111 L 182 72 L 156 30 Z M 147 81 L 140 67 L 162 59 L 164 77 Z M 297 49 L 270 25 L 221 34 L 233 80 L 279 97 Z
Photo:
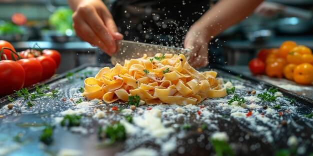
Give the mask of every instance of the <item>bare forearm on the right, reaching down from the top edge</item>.
M 263 0 L 219 0 L 192 26 L 205 30 L 207 41 L 248 16 Z

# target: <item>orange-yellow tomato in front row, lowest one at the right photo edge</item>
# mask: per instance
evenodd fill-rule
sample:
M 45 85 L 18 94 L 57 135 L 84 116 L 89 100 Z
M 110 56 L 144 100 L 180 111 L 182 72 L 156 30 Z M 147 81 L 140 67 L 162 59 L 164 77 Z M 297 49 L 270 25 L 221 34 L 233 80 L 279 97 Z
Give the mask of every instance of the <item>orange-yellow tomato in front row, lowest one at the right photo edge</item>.
M 302 63 L 297 65 L 293 71 L 293 79 L 296 83 L 302 85 L 313 84 L 313 65 Z

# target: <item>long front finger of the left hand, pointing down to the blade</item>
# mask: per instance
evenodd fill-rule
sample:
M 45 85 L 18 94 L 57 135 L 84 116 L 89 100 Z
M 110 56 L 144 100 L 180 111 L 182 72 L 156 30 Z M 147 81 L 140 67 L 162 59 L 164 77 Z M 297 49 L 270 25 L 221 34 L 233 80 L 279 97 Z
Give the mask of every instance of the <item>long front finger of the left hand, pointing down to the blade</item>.
M 79 11 L 79 10 L 78 10 Z M 93 9 L 81 9 L 81 11 L 85 14 L 88 14 L 87 17 L 83 17 L 86 23 L 91 27 L 91 29 L 96 33 L 96 35 L 101 39 L 102 43 L 106 45 L 108 48 L 107 53 L 113 53 L 116 50 L 116 43 L 109 30 L 104 25 L 103 21 L 97 14 L 97 12 Z M 90 14 L 91 13 L 91 14 Z

